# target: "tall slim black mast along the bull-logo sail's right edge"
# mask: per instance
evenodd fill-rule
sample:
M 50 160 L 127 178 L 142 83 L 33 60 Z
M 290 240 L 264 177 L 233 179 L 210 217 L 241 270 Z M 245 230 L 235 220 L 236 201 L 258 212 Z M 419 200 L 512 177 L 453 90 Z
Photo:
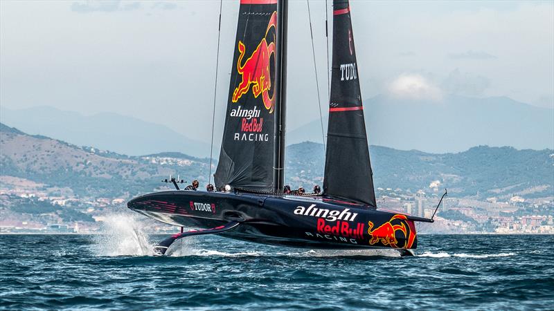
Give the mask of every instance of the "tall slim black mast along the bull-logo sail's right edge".
M 280 192 L 285 180 L 285 117 L 287 115 L 287 15 L 288 0 L 277 1 L 274 191 Z

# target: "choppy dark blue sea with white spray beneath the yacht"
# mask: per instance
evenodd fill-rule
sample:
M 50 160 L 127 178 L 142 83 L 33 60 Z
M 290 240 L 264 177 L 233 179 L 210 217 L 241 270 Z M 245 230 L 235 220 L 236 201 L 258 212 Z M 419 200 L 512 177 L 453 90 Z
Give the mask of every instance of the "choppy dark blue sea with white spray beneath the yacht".
M 163 236 L 0 235 L 0 310 L 553 310 L 554 236 L 421 235 L 417 256 Z

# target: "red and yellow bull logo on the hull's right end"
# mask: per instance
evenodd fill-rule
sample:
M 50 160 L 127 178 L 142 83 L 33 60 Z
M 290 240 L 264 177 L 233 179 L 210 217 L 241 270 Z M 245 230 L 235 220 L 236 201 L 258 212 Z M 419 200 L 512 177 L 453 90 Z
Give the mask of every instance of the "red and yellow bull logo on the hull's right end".
M 400 221 L 393 221 L 400 220 Z M 393 222 L 395 225 L 393 225 Z M 411 248 L 415 241 L 415 227 L 411 220 L 405 215 L 397 214 L 388 220 L 388 222 L 373 229 L 373 222 L 368 222 L 368 234 L 370 236 L 369 244 L 375 245 L 376 243 L 382 243 L 394 248 Z M 400 231 L 404 235 L 406 242 L 404 245 L 399 246 L 396 238 L 396 232 Z

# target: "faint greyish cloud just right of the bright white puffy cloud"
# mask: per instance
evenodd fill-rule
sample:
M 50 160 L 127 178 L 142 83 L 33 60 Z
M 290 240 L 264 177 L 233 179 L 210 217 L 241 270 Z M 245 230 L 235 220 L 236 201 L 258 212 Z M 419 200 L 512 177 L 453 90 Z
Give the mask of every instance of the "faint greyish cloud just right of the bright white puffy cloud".
M 483 75 L 462 73 L 458 68 L 452 70 L 440 85 L 446 93 L 479 96 L 490 86 L 490 79 Z

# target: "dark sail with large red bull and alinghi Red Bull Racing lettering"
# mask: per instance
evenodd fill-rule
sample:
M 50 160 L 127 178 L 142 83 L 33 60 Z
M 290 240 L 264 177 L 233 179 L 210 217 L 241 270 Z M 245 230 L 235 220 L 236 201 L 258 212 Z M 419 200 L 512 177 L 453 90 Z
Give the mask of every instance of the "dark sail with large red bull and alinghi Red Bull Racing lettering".
M 215 186 L 273 190 L 277 0 L 241 0 Z

